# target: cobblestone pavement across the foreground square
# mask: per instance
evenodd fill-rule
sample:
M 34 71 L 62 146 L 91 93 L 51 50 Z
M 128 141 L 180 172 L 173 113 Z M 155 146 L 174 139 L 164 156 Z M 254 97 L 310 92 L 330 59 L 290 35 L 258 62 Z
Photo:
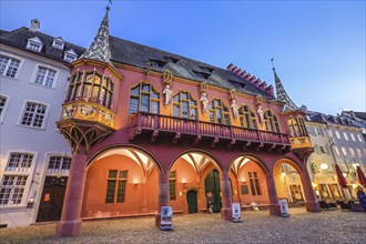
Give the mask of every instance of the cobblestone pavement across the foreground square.
M 174 231 L 162 232 L 154 217 L 85 222 L 82 234 L 54 238 L 55 224 L 1 228 L 3 243 L 366 243 L 366 214 L 291 209 L 289 217 L 267 211 L 243 212 L 243 223 L 221 220 L 220 214 L 186 214 L 173 217 Z

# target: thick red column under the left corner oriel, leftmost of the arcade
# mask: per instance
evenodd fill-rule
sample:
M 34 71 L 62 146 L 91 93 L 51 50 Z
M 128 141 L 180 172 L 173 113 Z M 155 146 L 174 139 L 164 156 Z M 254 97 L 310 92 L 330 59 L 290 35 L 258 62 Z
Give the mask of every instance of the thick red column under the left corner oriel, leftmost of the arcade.
M 87 179 L 87 155 L 73 154 L 63 201 L 61 221 L 57 224 L 55 236 L 79 236 L 81 232 L 81 206 Z

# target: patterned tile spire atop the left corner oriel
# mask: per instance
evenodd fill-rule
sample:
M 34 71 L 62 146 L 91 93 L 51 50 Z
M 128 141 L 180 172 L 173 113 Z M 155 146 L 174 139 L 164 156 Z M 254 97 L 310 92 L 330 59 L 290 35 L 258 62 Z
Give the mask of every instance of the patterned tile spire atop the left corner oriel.
M 94 41 L 91 43 L 90 48 L 80 57 L 80 59 L 90 59 L 111 64 L 111 50 L 109 42 L 109 11 L 110 7 L 106 7 L 105 16 L 96 32 Z

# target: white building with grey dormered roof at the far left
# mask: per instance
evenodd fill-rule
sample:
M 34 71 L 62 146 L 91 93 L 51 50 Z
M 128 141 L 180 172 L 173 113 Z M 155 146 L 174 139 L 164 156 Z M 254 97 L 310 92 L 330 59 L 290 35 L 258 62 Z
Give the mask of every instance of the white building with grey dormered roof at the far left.
M 32 20 L 30 28 L 0 32 L 2 227 L 58 218 L 62 204 L 55 204 L 63 199 L 71 162 L 70 146 L 55 121 L 70 74 L 65 64 L 83 49 L 39 28 Z

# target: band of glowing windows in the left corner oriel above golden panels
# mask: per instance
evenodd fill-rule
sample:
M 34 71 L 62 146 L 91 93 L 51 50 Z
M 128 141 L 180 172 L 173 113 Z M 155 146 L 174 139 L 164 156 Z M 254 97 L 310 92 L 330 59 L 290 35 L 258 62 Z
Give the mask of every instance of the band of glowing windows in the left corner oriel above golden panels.
M 94 71 L 78 71 L 71 75 L 67 101 L 95 102 L 112 108 L 114 83 L 111 78 Z

